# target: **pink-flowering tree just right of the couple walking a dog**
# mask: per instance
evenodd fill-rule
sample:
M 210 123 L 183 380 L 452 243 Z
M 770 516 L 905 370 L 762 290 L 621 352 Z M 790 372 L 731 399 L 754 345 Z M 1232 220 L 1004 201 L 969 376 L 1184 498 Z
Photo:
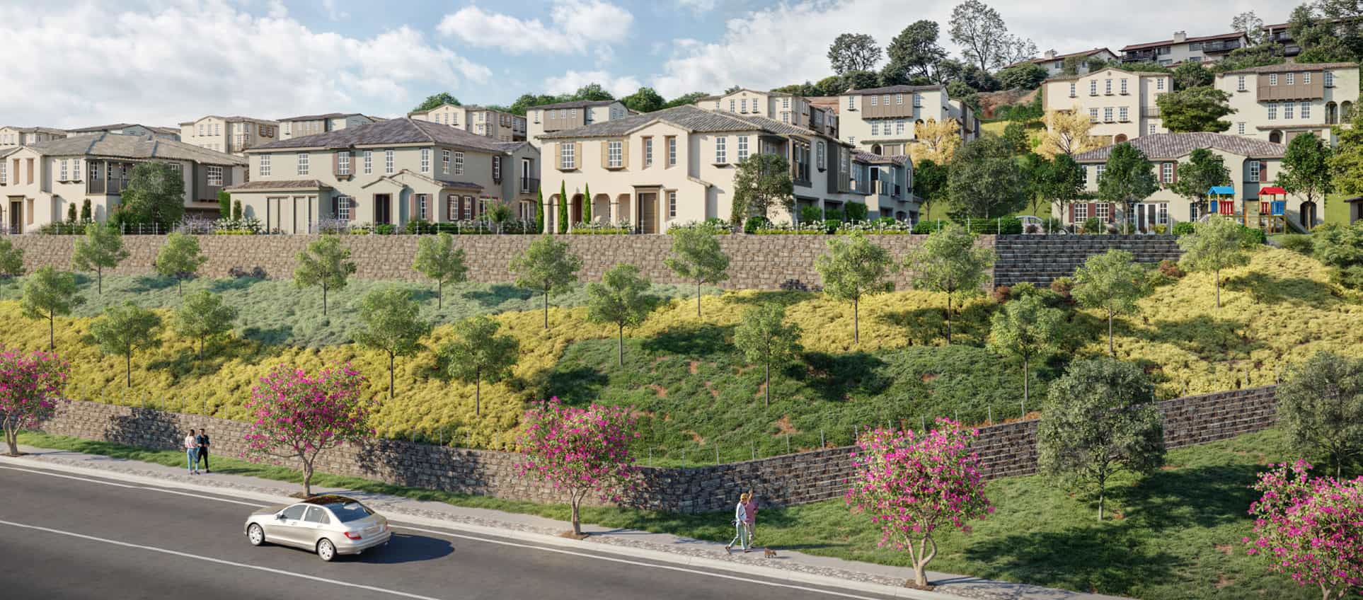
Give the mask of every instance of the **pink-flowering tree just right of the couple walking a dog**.
M 852 487 L 844 495 L 853 511 L 880 525 L 880 547 L 908 551 L 913 584 L 928 585 L 927 566 L 936 556 L 932 532 L 950 525 L 969 532 L 972 518 L 994 513 L 984 496 L 980 458 L 970 451 L 979 430 L 938 419 L 936 428 L 867 431 L 852 453 Z

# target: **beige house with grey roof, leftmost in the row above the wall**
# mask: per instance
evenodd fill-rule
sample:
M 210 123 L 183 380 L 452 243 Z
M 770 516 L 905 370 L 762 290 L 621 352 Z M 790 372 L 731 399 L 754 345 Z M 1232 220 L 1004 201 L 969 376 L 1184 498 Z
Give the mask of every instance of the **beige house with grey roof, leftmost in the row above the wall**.
M 97 134 L 0 151 L 0 217 L 27 233 L 64 221 L 68 206 L 109 218 L 139 162 L 165 162 L 184 176 L 187 214 L 217 217 L 218 191 L 245 177 L 245 160 L 169 139 Z

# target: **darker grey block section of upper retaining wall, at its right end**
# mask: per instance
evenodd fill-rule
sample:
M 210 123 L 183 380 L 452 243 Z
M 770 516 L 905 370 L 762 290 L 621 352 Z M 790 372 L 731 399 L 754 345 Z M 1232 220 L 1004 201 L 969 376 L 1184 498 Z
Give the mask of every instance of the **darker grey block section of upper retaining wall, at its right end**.
M 1051 280 L 1073 277 L 1084 260 L 1108 250 L 1124 250 L 1135 262 L 1152 265 L 1182 255 L 1174 236 L 999 236 L 994 243 L 994 285 L 1028 281 L 1050 286 Z

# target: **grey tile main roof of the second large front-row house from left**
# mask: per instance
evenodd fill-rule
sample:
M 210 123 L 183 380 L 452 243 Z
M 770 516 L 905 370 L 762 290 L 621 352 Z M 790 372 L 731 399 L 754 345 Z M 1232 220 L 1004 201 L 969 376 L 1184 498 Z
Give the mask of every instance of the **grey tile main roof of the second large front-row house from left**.
M 304 135 L 301 138 L 282 139 L 256 146 L 248 153 L 266 150 L 286 150 L 301 147 L 348 149 L 356 146 L 384 146 L 398 143 L 431 143 L 442 146 L 459 146 L 487 153 L 507 153 L 507 142 L 497 142 L 492 138 L 470 134 L 458 127 L 444 125 L 435 121 L 423 121 L 412 117 L 388 119 L 364 125 L 346 127 L 343 130 L 328 131 L 326 134 Z M 514 142 L 519 143 L 519 142 Z

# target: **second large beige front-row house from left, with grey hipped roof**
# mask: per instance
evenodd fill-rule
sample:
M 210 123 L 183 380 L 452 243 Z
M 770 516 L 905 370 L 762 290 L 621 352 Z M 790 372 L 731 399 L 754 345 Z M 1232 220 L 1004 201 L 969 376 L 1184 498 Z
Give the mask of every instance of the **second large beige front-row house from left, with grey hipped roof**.
M 319 224 L 473 220 L 493 202 L 533 220 L 540 151 L 420 119 L 388 119 L 247 151 L 249 183 L 228 188 L 269 230 Z

